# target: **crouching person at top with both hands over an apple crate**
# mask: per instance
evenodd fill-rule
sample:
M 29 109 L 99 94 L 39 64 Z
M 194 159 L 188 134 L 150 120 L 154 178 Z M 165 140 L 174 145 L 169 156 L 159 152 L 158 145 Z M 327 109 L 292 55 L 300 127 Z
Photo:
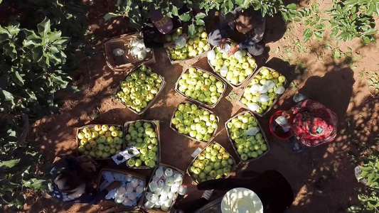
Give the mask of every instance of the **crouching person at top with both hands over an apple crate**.
M 247 9 L 242 11 L 237 6 L 228 14 L 220 14 L 220 25 L 216 26 L 209 34 L 208 40 L 211 45 L 220 45 L 224 48 L 226 39 L 238 31 L 246 35 L 245 40 L 234 45 L 228 51 L 228 55 L 233 55 L 238 49 L 247 49 L 252 55 L 261 55 L 265 49 L 265 42 L 262 40 L 265 34 L 265 17 L 260 11 Z

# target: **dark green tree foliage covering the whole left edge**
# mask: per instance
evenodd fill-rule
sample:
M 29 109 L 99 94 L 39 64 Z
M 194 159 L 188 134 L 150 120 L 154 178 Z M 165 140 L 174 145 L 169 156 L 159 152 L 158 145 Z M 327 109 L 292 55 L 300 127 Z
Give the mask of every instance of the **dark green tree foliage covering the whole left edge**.
M 74 53 L 82 46 L 86 17 L 75 1 L 0 4 L 0 13 L 9 15 L 0 25 L 0 207 L 22 209 L 26 190 L 49 187 L 39 144 L 24 138 L 28 119 L 57 111 L 55 94 L 76 89 L 68 72 L 80 59 Z

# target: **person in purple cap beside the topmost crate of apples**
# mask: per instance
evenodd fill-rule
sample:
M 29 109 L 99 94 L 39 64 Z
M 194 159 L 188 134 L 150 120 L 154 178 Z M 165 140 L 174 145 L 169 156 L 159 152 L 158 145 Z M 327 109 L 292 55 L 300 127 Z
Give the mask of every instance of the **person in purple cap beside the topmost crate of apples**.
M 179 14 L 188 11 L 186 7 L 183 7 L 178 11 Z M 176 28 L 182 28 L 183 38 L 188 38 L 188 24 L 181 22 L 178 16 L 169 18 L 164 15 L 161 9 L 150 9 L 150 18 L 142 27 L 144 34 L 144 45 L 146 48 L 175 48 L 174 40 L 172 42 L 166 42 L 164 35 L 168 35 Z

